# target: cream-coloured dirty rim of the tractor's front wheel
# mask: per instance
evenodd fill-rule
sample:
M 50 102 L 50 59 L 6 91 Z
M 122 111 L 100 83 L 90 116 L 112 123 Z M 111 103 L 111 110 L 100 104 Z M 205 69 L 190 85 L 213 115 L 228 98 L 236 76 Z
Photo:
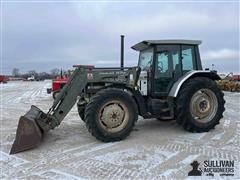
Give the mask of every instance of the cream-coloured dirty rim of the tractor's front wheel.
M 129 121 L 126 105 L 118 100 L 107 102 L 99 112 L 100 126 L 110 133 L 123 130 Z

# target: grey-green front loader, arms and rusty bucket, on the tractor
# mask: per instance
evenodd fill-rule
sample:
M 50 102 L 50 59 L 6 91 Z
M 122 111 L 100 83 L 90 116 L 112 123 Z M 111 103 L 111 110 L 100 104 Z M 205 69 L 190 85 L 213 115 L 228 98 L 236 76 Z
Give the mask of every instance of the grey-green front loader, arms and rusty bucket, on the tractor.
M 93 66 L 75 66 L 76 69 L 67 84 L 56 97 L 52 107 L 44 113 L 36 106 L 20 117 L 16 138 L 10 154 L 32 149 L 41 143 L 44 133 L 58 126 L 91 83 L 114 83 L 116 86 L 134 87 L 138 68 L 94 68 Z

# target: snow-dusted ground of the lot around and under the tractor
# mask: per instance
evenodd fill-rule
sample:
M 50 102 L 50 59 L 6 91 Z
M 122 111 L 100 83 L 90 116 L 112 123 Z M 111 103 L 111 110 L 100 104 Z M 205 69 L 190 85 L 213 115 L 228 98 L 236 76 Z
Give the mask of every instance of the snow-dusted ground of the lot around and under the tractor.
M 74 107 L 36 149 L 9 155 L 18 119 L 32 104 L 47 111 L 51 81 L 1 84 L 1 179 L 183 179 L 194 160 L 235 161 L 239 179 L 240 94 L 225 92 L 226 111 L 208 133 L 189 133 L 175 121 L 139 119 L 121 142 L 92 137 Z

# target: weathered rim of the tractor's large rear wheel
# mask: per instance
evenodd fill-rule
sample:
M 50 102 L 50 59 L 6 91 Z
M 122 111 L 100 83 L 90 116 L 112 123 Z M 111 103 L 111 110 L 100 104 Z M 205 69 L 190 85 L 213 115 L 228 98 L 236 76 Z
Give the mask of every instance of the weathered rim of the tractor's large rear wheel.
M 210 122 L 216 115 L 217 109 L 217 97 L 210 89 L 200 89 L 193 94 L 190 102 L 190 112 L 197 122 Z

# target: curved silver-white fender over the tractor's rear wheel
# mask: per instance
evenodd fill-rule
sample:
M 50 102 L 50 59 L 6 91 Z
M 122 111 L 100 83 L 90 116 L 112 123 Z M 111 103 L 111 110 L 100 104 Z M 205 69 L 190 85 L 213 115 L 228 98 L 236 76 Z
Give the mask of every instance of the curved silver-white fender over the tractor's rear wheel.
M 189 71 L 179 78 L 172 86 L 171 90 L 168 93 L 170 97 L 177 97 L 179 90 L 183 84 L 193 77 L 207 77 L 212 80 L 220 80 L 221 78 L 214 71 Z

